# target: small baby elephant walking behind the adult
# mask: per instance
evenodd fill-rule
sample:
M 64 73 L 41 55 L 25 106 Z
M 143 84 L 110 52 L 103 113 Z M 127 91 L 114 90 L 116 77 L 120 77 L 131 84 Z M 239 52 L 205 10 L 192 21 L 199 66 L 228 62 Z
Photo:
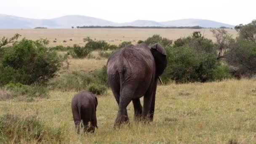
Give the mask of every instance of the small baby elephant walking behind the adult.
M 98 128 L 96 118 L 97 105 L 98 100 L 96 96 L 90 92 L 81 91 L 73 97 L 71 109 L 77 134 L 80 133 L 79 125 L 81 120 L 83 120 L 84 132 L 94 133 L 95 127 Z M 90 126 L 89 122 L 91 122 Z

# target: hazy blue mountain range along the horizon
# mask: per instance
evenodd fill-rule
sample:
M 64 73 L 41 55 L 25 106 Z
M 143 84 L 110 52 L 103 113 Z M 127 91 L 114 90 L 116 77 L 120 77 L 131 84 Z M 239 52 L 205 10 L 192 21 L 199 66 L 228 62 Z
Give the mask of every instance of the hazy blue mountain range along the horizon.
M 205 19 L 180 19 L 175 21 L 147 21 L 136 20 L 127 23 L 116 23 L 104 19 L 98 19 L 89 16 L 69 15 L 54 19 L 29 19 L 18 16 L 0 14 L 0 29 L 18 29 L 18 28 L 71 28 L 76 26 L 135 26 L 135 27 L 234 27 L 230 24 L 224 24 Z

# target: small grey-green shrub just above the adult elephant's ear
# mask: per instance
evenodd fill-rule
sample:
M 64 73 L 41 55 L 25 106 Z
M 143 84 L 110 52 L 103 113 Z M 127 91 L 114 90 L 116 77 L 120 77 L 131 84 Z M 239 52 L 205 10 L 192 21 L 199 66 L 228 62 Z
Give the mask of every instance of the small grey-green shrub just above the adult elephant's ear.
M 163 47 L 167 47 L 171 46 L 173 41 L 169 40 L 168 38 L 161 37 L 160 35 L 153 35 L 152 37 L 147 38 L 144 43 L 146 43 L 147 45 L 154 45 L 155 43 L 160 43 Z

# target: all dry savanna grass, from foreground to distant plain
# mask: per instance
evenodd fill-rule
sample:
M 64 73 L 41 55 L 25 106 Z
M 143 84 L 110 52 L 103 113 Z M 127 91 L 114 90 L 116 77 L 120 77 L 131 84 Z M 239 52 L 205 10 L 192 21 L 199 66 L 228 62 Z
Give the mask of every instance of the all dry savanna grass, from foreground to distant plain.
M 0 29 L 0 37 L 12 37 L 15 33 L 19 33 L 22 37 L 32 40 L 47 38 L 50 40 L 49 46 L 84 45 L 83 38 L 90 37 L 93 40 L 106 40 L 108 43 L 118 45 L 121 43 L 120 40 L 122 42 L 135 40 L 136 42 L 133 43 L 137 43 L 138 40 L 145 40 L 153 34 L 175 40 L 191 35 L 194 31 L 201 31 L 202 35 L 214 40 L 209 29 Z M 227 31 L 237 35 L 233 29 L 227 29 Z M 52 43 L 55 38 L 57 43 Z M 67 43 L 63 43 L 63 40 L 67 40 Z M 24 41 L 24 43 L 28 42 Z M 67 52 L 58 51 L 63 56 Z M 187 56 L 187 53 L 185 54 Z M 72 72 L 89 74 L 107 64 L 107 58 L 100 57 L 99 50 L 92 51 L 91 55 L 94 57 L 79 59 L 67 56 L 68 63 L 64 64 L 61 70 L 57 71 L 57 75 L 47 82 L 47 97 L 31 99 L 17 97 L 0 100 L 0 128 L 8 131 L 4 133 L 5 137 L 0 133 L 0 143 L 256 143 L 255 77 L 184 84 L 170 80 L 165 85 L 159 84 L 153 122 L 145 124 L 134 121 L 133 105 L 130 103 L 127 108 L 130 124 L 123 125 L 120 129 L 113 129 L 118 106 L 110 88 L 107 88 L 106 93 L 97 95 L 99 104 L 96 113 L 99 128 L 94 134 L 77 135 L 71 112 L 71 99 L 77 91 L 72 89 L 75 87 L 74 83 L 67 82 L 69 82 L 68 78 L 70 82 L 73 79 L 88 78 L 69 77 L 74 75 Z M 59 88 L 55 88 L 54 85 Z M 3 91 L 0 89 L 0 96 L 5 94 Z M 143 98 L 141 103 L 142 101 Z M 26 117 L 30 118 L 26 119 Z

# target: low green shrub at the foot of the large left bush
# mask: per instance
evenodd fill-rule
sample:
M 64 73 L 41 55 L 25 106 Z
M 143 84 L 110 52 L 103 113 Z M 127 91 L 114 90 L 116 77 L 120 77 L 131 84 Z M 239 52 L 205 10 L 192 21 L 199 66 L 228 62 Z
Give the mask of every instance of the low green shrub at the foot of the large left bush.
M 40 85 L 23 85 L 21 83 L 9 83 L 4 85 L 4 88 L 11 92 L 13 98 L 48 98 L 48 89 Z

